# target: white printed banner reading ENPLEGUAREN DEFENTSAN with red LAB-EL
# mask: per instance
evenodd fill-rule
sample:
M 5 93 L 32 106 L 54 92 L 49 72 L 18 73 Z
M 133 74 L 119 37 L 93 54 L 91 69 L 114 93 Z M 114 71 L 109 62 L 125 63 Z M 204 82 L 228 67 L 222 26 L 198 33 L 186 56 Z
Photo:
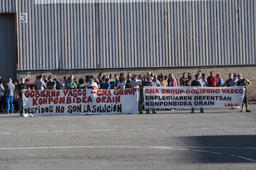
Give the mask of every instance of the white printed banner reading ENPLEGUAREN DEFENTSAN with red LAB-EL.
M 146 109 L 240 108 L 245 89 L 238 87 L 150 87 L 143 89 Z

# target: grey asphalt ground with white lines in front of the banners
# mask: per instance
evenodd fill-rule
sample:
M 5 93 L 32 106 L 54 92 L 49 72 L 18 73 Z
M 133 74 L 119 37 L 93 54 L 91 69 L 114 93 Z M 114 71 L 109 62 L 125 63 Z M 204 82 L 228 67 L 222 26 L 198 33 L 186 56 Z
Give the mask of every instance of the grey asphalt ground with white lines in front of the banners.
M 0 169 L 256 169 L 256 105 L 250 110 L 0 114 Z

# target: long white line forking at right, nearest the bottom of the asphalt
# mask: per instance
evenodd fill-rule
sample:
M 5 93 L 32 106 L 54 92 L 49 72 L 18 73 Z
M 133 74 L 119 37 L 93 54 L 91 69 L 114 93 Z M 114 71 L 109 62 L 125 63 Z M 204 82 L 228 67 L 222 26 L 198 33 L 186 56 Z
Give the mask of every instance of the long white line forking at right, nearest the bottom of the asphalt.
M 215 148 L 215 149 L 256 149 L 256 148 L 236 148 L 236 147 L 200 147 L 200 146 L 54 146 L 54 147 L 30 147 L 30 148 L 0 148 L 0 150 L 14 150 L 14 149 L 60 149 L 60 148 L 161 148 L 161 149 L 176 149 L 176 150 L 191 150 L 196 152 L 204 152 L 204 153 L 213 153 L 218 155 L 226 155 L 232 156 L 236 158 L 246 159 L 251 162 L 256 162 L 254 159 L 246 158 L 243 156 L 230 155 L 226 153 L 220 152 L 212 152 L 212 151 L 203 151 L 203 150 L 194 150 L 188 148 Z

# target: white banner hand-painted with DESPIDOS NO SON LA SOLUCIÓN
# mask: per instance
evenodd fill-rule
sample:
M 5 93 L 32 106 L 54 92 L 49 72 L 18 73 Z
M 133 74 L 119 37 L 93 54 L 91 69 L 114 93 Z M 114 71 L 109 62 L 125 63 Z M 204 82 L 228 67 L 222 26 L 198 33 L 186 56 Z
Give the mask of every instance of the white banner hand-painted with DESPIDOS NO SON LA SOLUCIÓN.
M 138 90 L 27 90 L 22 93 L 24 117 L 137 114 Z

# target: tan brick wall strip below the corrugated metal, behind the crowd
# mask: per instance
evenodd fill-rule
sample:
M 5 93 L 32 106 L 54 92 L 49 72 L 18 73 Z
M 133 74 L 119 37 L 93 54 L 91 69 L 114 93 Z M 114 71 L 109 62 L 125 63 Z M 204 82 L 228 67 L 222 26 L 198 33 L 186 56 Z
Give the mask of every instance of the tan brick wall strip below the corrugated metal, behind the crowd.
M 242 65 L 242 66 L 191 66 L 191 67 L 156 67 L 156 68 L 108 68 L 108 69 L 81 69 L 81 70 L 31 70 L 30 82 L 35 81 L 35 77 L 38 74 L 53 76 L 56 79 L 63 79 L 64 76 L 70 76 L 74 74 L 76 79 L 84 78 L 86 75 L 95 74 L 98 76 L 99 72 L 103 72 L 106 74 L 119 74 L 120 72 L 124 72 L 126 75 L 128 72 L 131 74 L 141 74 L 145 75 L 148 71 L 159 75 L 160 73 L 164 73 L 168 76 L 169 73 L 173 73 L 174 76 L 179 80 L 182 77 L 182 73 L 191 73 L 192 76 L 197 73 L 198 70 L 201 70 L 202 73 L 205 73 L 207 76 L 210 75 L 211 71 L 216 73 L 220 73 L 221 77 L 225 81 L 228 79 L 229 73 L 241 73 L 243 77 L 249 79 L 252 84 L 248 88 L 248 98 L 251 101 L 256 101 L 256 91 L 254 90 L 256 87 L 256 66 L 255 65 Z M 27 76 L 27 71 L 19 71 L 20 77 Z

